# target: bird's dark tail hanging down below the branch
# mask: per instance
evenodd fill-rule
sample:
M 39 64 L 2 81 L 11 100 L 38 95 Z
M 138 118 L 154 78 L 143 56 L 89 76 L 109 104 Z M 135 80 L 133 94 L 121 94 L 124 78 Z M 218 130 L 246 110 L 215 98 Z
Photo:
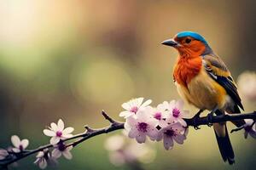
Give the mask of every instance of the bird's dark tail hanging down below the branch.
M 229 133 L 225 123 L 213 124 L 215 136 L 218 143 L 218 149 L 223 158 L 223 161 L 229 161 L 230 165 L 235 163 L 235 154 L 230 143 Z

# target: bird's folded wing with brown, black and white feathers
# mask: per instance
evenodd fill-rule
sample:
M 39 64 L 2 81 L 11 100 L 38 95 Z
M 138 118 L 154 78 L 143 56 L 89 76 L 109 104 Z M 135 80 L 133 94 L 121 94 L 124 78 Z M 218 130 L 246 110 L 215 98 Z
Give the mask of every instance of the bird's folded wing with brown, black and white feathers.
M 215 54 L 208 54 L 202 56 L 203 65 L 212 79 L 214 79 L 218 84 L 220 84 L 230 95 L 230 98 L 234 100 L 236 105 L 239 105 L 243 110 L 241 105 L 241 98 L 237 92 L 236 83 L 231 77 L 230 71 L 224 64 L 223 60 L 220 59 Z

